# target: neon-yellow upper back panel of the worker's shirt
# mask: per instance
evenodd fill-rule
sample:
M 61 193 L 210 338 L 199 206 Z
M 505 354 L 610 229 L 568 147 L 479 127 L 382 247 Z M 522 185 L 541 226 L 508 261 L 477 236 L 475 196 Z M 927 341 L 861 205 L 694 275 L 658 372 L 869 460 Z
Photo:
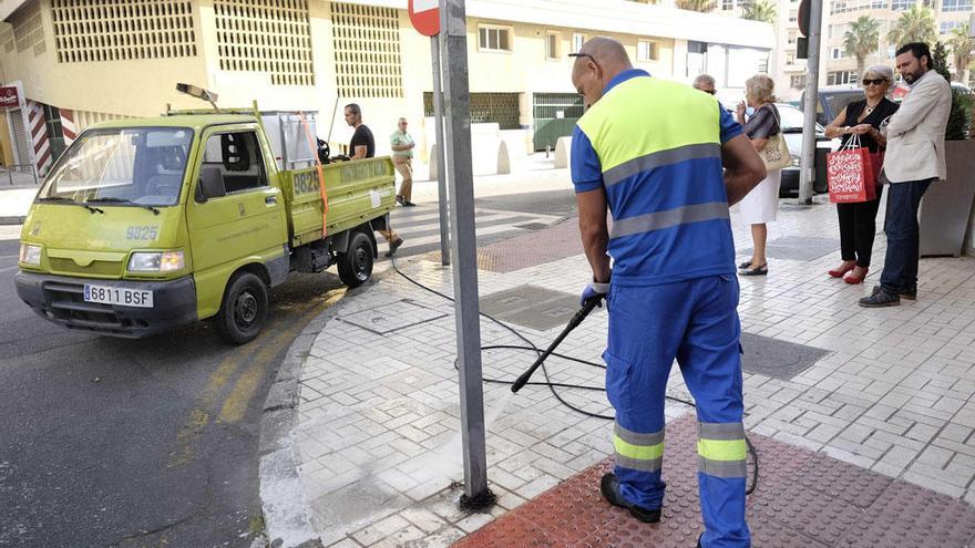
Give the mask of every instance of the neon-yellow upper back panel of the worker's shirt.
M 666 104 L 667 108 L 648 105 Z M 614 86 L 578 121 L 603 173 L 682 146 L 721 142 L 718 101 L 677 82 L 637 76 Z M 653 128 L 653 131 L 647 131 Z

